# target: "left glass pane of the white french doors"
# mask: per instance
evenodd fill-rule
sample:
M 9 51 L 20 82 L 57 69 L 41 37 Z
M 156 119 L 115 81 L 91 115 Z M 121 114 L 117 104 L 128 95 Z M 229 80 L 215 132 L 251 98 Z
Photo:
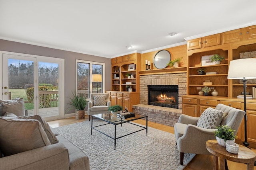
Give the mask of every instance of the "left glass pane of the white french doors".
M 8 59 L 9 99 L 23 98 L 25 109 L 34 114 L 34 62 Z

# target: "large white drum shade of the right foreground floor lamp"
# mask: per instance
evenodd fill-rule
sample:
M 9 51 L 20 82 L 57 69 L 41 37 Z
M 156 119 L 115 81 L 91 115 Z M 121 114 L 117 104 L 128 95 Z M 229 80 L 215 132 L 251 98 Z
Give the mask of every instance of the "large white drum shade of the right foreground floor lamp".
M 229 63 L 228 79 L 256 78 L 256 58 L 237 59 Z

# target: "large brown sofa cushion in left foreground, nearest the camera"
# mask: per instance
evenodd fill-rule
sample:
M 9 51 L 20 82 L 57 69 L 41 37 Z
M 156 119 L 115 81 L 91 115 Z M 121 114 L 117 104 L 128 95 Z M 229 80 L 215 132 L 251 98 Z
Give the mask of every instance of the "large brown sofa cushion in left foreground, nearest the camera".
M 4 156 L 46 145 L 51 143 L 38 120 L 0 117 L 0 150 Z

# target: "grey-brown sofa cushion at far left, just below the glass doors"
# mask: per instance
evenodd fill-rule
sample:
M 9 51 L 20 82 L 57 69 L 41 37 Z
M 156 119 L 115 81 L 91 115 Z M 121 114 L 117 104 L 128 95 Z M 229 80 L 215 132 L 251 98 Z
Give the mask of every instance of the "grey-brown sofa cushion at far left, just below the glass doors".
M 14 113 L 16 116 L 25 115 L 25 107 L 22 98 L 16 98 L 15 100 L 1 100 L 0 102 L 1 116 L 3 116 L 6 112 Z

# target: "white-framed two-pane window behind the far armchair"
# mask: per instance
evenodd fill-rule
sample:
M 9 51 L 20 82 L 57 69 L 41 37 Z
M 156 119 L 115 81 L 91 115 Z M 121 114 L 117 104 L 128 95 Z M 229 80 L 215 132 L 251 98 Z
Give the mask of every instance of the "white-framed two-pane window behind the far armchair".
M 76 60 L 76 92 L 90 98 L 90 93 L 103 93 L 105 90 L 105 64 L 92 61 Z M 101 74 L 102 82 L 92 82 L 92 74 Z

